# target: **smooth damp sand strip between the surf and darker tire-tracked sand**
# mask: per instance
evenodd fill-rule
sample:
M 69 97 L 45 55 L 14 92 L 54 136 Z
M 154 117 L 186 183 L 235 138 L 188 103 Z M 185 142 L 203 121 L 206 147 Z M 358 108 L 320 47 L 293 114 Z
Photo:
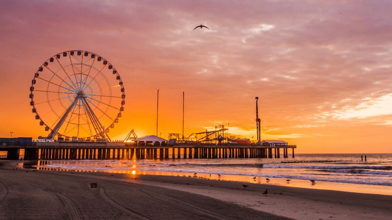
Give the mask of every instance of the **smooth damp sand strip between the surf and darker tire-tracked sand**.
M 19 161 L 18 161 L 19 162 Z M 15 161 L 15 166 L 18 162 Z M 72 172 L 37 170 L 56 176 L 97 178 L 98 181 L 163 187 L 193 195 L 215 198 L 230 204 L 294 219 L 388 219 L 392 196 L 334 190 L 288 187 L 274 184 L 222 181 L 188 176 L 158 176 L 109 172 Z M 99 180 L 100 179 L 100 180 Z M 98 185 L 100 183 L 98 182 Z M 248 185 L 243 187 L 242 184 Z M 268 195 L 263 192 L 268 189 Z M 0 203 L 1 205 L 1 203 Z M 279 218 L 280 218 L 279 217 Z

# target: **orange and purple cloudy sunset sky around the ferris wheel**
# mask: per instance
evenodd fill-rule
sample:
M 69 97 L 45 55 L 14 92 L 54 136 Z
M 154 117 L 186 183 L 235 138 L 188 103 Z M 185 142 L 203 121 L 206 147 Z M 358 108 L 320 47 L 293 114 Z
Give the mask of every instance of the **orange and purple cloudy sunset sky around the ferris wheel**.
M 185 136 L 223 124 L 256 137 L 258 96 L 262 139 L 297 153 L 392 153 L 391 14 L 388 0 L 5 1 L 0 136 L 47 135 L 29 105 L 34 73 L 85 50 L 124 83 L 112 139 L 155 134 L 159 89 L 165 138 L 182 132 L 184 91 Z

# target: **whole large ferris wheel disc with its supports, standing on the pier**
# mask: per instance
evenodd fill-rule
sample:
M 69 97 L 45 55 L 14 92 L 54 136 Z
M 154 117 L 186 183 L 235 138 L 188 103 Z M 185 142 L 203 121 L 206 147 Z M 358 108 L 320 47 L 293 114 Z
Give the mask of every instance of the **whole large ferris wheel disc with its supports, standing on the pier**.
M 48 139 L 58 137 L 109 140 L 125 105 L 117 70 L 97 54 L 70 50 L 50 57 L 31 81 L 30 106 Z

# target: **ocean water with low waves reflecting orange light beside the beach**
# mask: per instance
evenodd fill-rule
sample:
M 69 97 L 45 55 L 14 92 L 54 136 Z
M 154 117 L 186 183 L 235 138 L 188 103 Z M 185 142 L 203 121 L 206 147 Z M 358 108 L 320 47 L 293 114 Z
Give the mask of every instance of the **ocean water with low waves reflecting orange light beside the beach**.
M 193 176 L 392 195 L 392 154 L 366 156 L 367 161 L 365 154 L 295 154 L 295 158 L 289 154 L 289 158 L 244 159 L 51 160 L 39 169 Z

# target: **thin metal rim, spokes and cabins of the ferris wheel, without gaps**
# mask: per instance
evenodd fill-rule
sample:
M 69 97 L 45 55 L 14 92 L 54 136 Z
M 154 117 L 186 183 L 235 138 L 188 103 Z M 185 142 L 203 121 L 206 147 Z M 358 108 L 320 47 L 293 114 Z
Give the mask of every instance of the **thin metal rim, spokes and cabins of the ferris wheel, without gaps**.
M 79 54 L 79 52 L 80 52 L 80 54 Z M 74 56 L 73 54 L 75 54 L 75 53 L 77 53 L 78 54 L 78 56 L 79 55 L 81 55 L 81 61 L 80 60 L 78 60 L 77 59 L 77 57 L 76 57 L 76 59 L 75 59 L 75 62 L 79 62 L 79 63 L 73 63 L 73 61 L 72 61 L 72 56 Z M 87 53 L 87 55 L 86 55 L 86 53 Z M 64 55 L 65 54 L 65 55 Z M 71 66 L 73 67 L 73 73 L 71 73 L 71 74 L 69 74 L 66 70 L 65 70 L 65 67 L 60 63 L 60 61 L 59 61 L 59 59 L 60 59 L 60 57 L 61 57 L 61 55 L 63 55 L 64 57 L 65 56 L 67 56 L 67 54 L 69 55 L 69 57 L 70 57 L 70 60 L 71 60 Z M 91 58 L 90 59 L 88 59 L 87 61 L 89 61 L 89 60 L 91 60 L 91 59 L 94 59 L 93 60 L 93 64 L 91 65 L 91 66 L 89 66 L 89 65 L 87 65 L 86 63 L 83 63 L 83 57 L 86 57 L 86 56 L 88 56 L 88 55 L 91 55 Z M 64 77 L 64 79 L 62 78 L 62 77 L 60 77 L 58 74 L 56 74 L 59 70 L 57 70 L 57 72 L 56 71 L 53 71 L 53 70 L 51 70 L 49 67 L 48 67 L 48 64 L 49 64 L 49 62 L 53 62 L 54 61 L 54 59 L 56 59 L 57 60 L 57 62 L 60 64 L 60 66 L 62 67 L 62 69 L 64 70 L 64 72 L 66 73 L 66 75 L 67 75 L 67 78 L 65 78 Z M 95 76 L 95 77 L 93 77 L 92 78 L 92 80 L 91 81 L 89 81 L 89 83 L 87 84 L 87 80 L 89 79 L 89 76 L 90 76 L 90 73 L 91 73 L 91 71 L 92 71 L 92 69 L 93 69 L 93 65 L 94 65 L 94 62 L 96 61 L 96 59 L 98 60 L 98 62 L 99 61 L 101 61 L 101 60 L 103 60 L 103 67 L 102 67 L 102 69 L 100 69 L 99 71 L 98 71 L 98 68 L 96 67 L 96 66 L 94 66 L 94 70 L 96 70 L 96 71 L 98 71 L 98 73 L 97 73 L 97 75 Z M 77 61 L 76 61 L 77 60 Z M 86 61 L 86 62 L 87 62 Z M 76 73 L 75 72 L 75 65 L 80 65 L 80 71 L 79 70 L 77 70 L 77 71 L 79 71 L 78 73 Z M 70 66 L 70 65 L 68 65 L 68 66 Z M 83 67 L 84 66 L 87 66 L 87 68 L 88 67 L 90 67 L 90 70 L 89 70 L 89 72 L 88 72 L 88 74 L 86 74 L 84 71 L 83 71 Z M 109 67 L 109 69 L 113 69 L 113 74 L 112 75 L 110 75 L 110 76 L 107 76 L 107 75 L 104 75 L 103 73 L 102 73 L 102 70 L 106 67 L 106 66 L 108 66 Z M 51 78 L 49 79 L 49 80 L 47 80 L 47 79 L 43 79 L 43 78 L 41 78 L 41 77 L 39 77 L 39 72 L 41 71 L 43 71 L 43 69 L 44 68 L 47 68 L 50 72 L 52 72 L 53 73 L 53 75 L 51 76 Z M 79 82 L 79 79 L 77 78 L 77 75 L 76 74 L 80 74 L 80 82 Z M 98 74 L 100 74 L 102 77 L 103 77 L 103 80 L 101 80 L 100 82 L 98 82 L 95 78 L 98 76 Z M 75 76 L 75 81 L 76 82 L 74 82 L 73 81 L 73 75 Z M 117 80 L 119 80 L 119 85 L 117 85 L 117 86 L 111 86 L 110 85 L 110 83 L 109 83 L 109 81 L 108 81 L 108 78 L 111 78 L 111 77 L 113 77 L 114 75 L 116 75 L 117 76 Z M 55 84 L 54 82 L 52 82 L 53 81 L 53 77 L 57 77 L 57 78 L 59 78 L 59 79 L 61 79 L 61 83 L 60 84 Z M 85 78 L 85 80 L 83 79 L 83 76 L 85 76 L 86 78 Z M 36 79 L 40 79 L 40 80 L 43 80 L 43 81 L 46 81 L 47 83 L 48 83 L 48 87 L 47 87 L 47 89 L 46 90 L 34 90 L 34 84 L 36 83 Z M 67 82 L 67 79 L 69 79 L 71 82 Z M 83 80 L 84 80 L 84 83 L 83 83 Z M 100 85 L 100 83 L 102 83 L 103 81 L 106 81 L 106 83 L 107 83 L 107 85 L 109 86 L 109 87 L 107 87 L 107 88 L 109 88 L 109 95 L 103 95 L 102 94 L 102 90 L 103 89 L 107 89 L 107 88 L 101 88 L 101 85 Z M 94 83 L 93 83 L 94 82 Z M 93 87 L 91 87 L 90 86 L 90 84 L 92 84 L 93 83 Z M 50 84 L 54 84 L 55 86 L 57 86 L 57 91 L 49 91 L 49 85 Z M 94 87 L 96 87 L 96 86 L 98 86 L 98 88 L 99 89 L 97 89 L 97 90 L 94 90 L 94 91 L 99 91 L 99 94 L 92 94 L 92 92 L 94 92 L 93 90 L 92 90 L 92 88 L 94 88 Z M 119 96 L 113 96 L 112 95 L 112 89 L 111 88 L 115 88 L 115 87 L 121 87 L 121 97 L 119 97 Z M 66 89 L 66 91 L 60 91 L 60 89 Z M 87 90 L 86 90 L 87 89 Z M 49 104 L 49 107 L 50 107 L 50 110 L 51 111 L 49 111 L 48 113 L 50 113 L 50 112 L 53 112 L 55 115 L 56 115 L 56 117 L 57 117 L 57 119 L 55 120 L 55 122 L 53 123 L 53 125 L 49 125 L 48 123 L 46 123 L 45 121 L 44 121 L 44 119 L 42 118 L 42 116 L 38 113 L 38 111 L 37 111 L 37 105 L 39 105 L 39 104 L 41 104 L 41 103 L 34 103 L 34 94 L 36 94 L 38 91 L 42 91 L 42 92 L 45 92 L 46 93 L 46 97 L 47 97 L 47 100 L 46 101 L 44 101 L 44 102 L 41 102 L 41 103 L 48 103 Z M 86 91 L 85 93 L 84 93 L 84 97 L 85 98 L 83 98 L 83 101 L 81 101 L 82 99 L 79 97 L 79 96 L 76 96 L 76 97 L 74 97 L 75 95 L 77 95 L 78 94 L 78 92 L 84 92 L 84 91 Z M 57 93 L 57 100 L 59 100 L 59 103 L 61 104 L 60 106 L 63 108 L 63 109 L 66 109 L 66 106 L 65 106 L 65 104 L 66 103 L 68 103 L 68 102 L 70 102 L 70 101 L 72 101 L 73 99 L 76 99 L 77 97 L 78 97 L 78 103 L 79 103 L 79 122 L 78 122 L 78 126 L 81 124 L 80 123 L 80 110 L 81 110 L 81 105 L 83 105 L 84 106 L 84 108 L 85 108 L 85 105 L 88 105 L 88 103 L 87 103 L 87 101 L 88 102 L 90 102 L 91 104 L 93 104 L 93 106 L 94 106 L 94 110 L 99 110 L 99 111 L 101 111 L 102 112 L 102 114 L 100 114 L 100 116 L 99 116 L 99 118 L 101 118 L 101 117 L 104 117 L 104 116 L 107 116 L 109 119 L 110 119 L 110 121 L 111 121 L 111 123 L 108 123 L 109 125 L 107 126 L 107 127 L 102 127 L 102 129 L 103 129 L 103 131 L 107 131 L 109 128 L 113 128 L 114 127 L 114 124 L 115 123 L 117 123 L 118 121 L 119 121 L 119 117 L 121 117 L 121 115 L 122 115 L 122 112 L 123 112 L 123 106 L 124 106 L 124 104 L 125 104 L 125 92 L 124 92 L 124 86 L 123 86 L 123 80 L 122 80 L 122 78 L 120 77 L 120 74 L 118 73 L 118 71 L 116 70 L 116 68 L 110 63 L 110 62 L 108 62 L 106 59 L 104 59 L 102 56 L 99 56 L 98 54 L 96 54 L 96 53 L 93 53 L 93 52 L 90 52 L 90 51 L 85 51 L 85 50 L 67 50 L 67 51 L 63 51 L 63 52 L 60 52 L 60 53 L 57 53 L 57 54 L 55 54 L 55 55 L 53 55 L 52 57 L 50 57 L 46 62 L 44 62 L 44 64 L 43 65 L 41 65 L 39 68 L 38 68 L 38 70 L 35 72 L 35 74 L 34 74 L 34 77 L 33 77 L 33 80 L 32 80 L 32 83 L 31 83 L 31 87 L 30 87 L 30 99 L 31 99 L 31 101 L 30 101 L 30 105 L 33 107 L 33 112 L 35 113 L 35 115 L 36 115 L 36 119 L 39 119 L 40 120 L 40 125 L 43 125 L 43 126 L 45 126 L 45 128 L 46 128 L 46 131 L 53 131 L 53 126 L 54 126 L 54 124 L 56 124 L 57 123 L 57 121 L 60 119 L 60 117 L 63 115 L 63 114 L 65 114 L 65 112 L 63 112 L 63 114 L 61 114 L 61 115 L 58 115 L 58 113 L 55 111 L 55 110 L 53 110 L 53 108 L 52 108 L 52 106 L 51 106 L 51 101 L 56 101 L 56 99 L 54 99 L 54 100 L 49 100 L 49 93 L 50 92 L 55 92 L 55 93 Z M 68 95 L 68 96 L 65 96 L 65 97 L 60 97 L 60 94 L 61 93 L 67 93 L 67 94 L 70 94 L 70 95 Z M 93 96 L 98 96 L 97 97 L 97 99 L 96 98 L 93 98 Z M 109 103 L 105 103 L 105 102 L 102 102 L 102 97 L 108 97 L 109 98 Z M 65 102 L 64 104 L 60 101 L 61 99 L 65 99 L 65 98 L 68 98 L 68 101 L 67 102 Z M 111 103 L 112 103 L 112 98 L 121 98 L 122 100 L 121 100 L 121 106 L 120 106 L 120 108 L 116 108 L 116 107 L 114 107 L 113 105 L 111 105 Z M 87 100 L 87 101 L 86 101 Z M 96 104 L 94 104 L 94 102 L 92 102 L 91 100 L 95 100 L 95 101 L 97 101 L 98 102 L 98 105 L 96 105 Z M 73 102 L 72 102 L 73 103 Z M 83 104 L 82 104 L 83 103 Z M 101 110 L 100 108 L 98 108 L 98 106 L 99 105 L 106 105 L 106 109 L 105 110 Z M 76 106 L 75 106 L 75 108 L 76 108 Z M 110 117 L 109 115 L 107 115 L 106 114 L 106 112 L 108 111 L 108 109 L 109 108 L 114 108 L 114 109 L 117 109 L 117 110 L 119 110 L 119 112 L 117 113 L 117 115 L 115 116 L 115 117 Z M 87 117 L 87 113 L 86 113 L 86 109 L 84 109 L 85 110 L 85 117 L 86 117 L 86 119 L 87 119 L 87 122 L 86 122 L 86 124 L 93 124 L 93 121 L 91 121 L 91 122 L 89 122 L 89 119 L 88 119 L 88 117 Z M 74 112 L 74 110 L 73 110 L 73 112 Z M 93 111 L 94 112 L 94 111 Z M 38 118 L 37 118 L 38 117 Z M 71 115 L 71 117 L 70 117 L 70 120 L 71 120 L 71 118 L 72 118 L 72 115 Z M 98 120 L 98 119 L 97 119 Z M 99 122 L 99 121 L 98 121 Z M 67 126 L 69 125 L 69 124 L 74 124 L 74 123 L 70 123 L 70 121 L 67 123 Z M 90 126 L 90 125 L 89 125 Z M 74 127 L 75 128 L 75 127 Z M 73 129 L 74 129 L 73 128 Z M 72 130 L 73 130 L 72 129 Z M 79 127 L 78 127 L 78 129 L 79 129 Z M 82 129 L 84 129 L 83 127 L 82 127 Z M 69 133 L 69 132 L 67 132 L 67 133 Z M 71 137 L 71 136 L 69 136 L 69 135 L 67 135 L 67 133 L 66 133 L 66 130 L 64 131 L 64 133 L 60 133 L 60 132 L 56 132 L 54 135 L 61 135 L 61 136 L 64 136 L 64 137 Z M 79 130 L 78 130 L 78 133 L 79 133 Z M 87 131 L 86 131 L 86 133 L 88 133 Z M 92 134 L 92 132 L 91 132 L 91 128 L 90 128 L 90 134 Z M 95 137 L 95 136 L 98 136 L 98 135 L 100 135 L 101 133 L 96 133 L 96 134 L 92 134 L 91 136 L 86 136 L 86 137 L 83 137 L 83 138 L 90 138 L 90 137 Z M 81 137 L 79 137 L 79 138 L 81 138 Z

